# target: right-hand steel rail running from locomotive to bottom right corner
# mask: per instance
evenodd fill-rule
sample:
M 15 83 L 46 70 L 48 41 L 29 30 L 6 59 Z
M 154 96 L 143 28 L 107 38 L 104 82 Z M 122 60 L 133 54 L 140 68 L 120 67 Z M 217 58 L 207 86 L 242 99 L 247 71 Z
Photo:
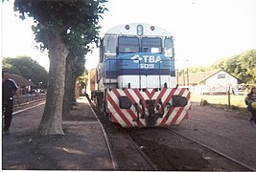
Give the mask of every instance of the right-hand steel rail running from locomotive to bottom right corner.
M 233 161 L 233 162 L 235 162 L 235 163 L 237 163 L 237 164 L 240 164 L 241 166 L 244 166 L 244 167 L 247 168 L 248 170 L 256 171 L 255 168 L 253 168 L 253 167 L 251 167 L 251 166 L 245 164 L 244 162 L 242 162 L 242 161 L 237 161 L 237 160 L 235 160 L 235 159 L 229 157 L 228 155 L 225 155 L 225 154 L 221 153 L 220 151 L 218 151 L 218 150 L 216 150 L 216 149 L 214 149 L 214 148 L 212 148 L 212 147 L 210 147 L 210 146 L 207 146 L 207 145 L 204 144 L 204 143 L 201 143 L 201 142 L 199 142 L 199 141 L 197 141 L 197 140 L 194 140 L 194 139 L 192 139 L 192 138 L 189 138 L 189 137 L 187 137 L 187 136 L 185 136 L 185 135 L 183 135 L 183 134 L 181 134 L 181 133 L 179 133 L 179 132 L 176 132 L 176 131 L 174 131 L 174 130 L 171 130 L 171 129 L 168 128 L 168 127 L 164 127 L 164 128 L 166 128 L 166 129 L 169 130 L 170 132 L 175 133 L 176 135 L 178 135 L 178 136 L 180 136 L 180 137 L 183 137 L 183 138 L 185 138 L 185 139 L 187 139 L 187 140 L 191 140 L 191 141 L 193 141 L 193 142 L 196 142 L 197 144 L 199 144 L 199 145 L 201 145 L 201 146 L 203 146 L 203 147 L 205 147 L 205 148 L 207 148 L 207 149 L 209 149 L 209 150 L 215 152 L 216 154 L 221 155 L 221 157 L 224 157 L 224 158 L 226 158 L 226 159 L 228 159 L 228 160 L 230 160 L 230 161 Z

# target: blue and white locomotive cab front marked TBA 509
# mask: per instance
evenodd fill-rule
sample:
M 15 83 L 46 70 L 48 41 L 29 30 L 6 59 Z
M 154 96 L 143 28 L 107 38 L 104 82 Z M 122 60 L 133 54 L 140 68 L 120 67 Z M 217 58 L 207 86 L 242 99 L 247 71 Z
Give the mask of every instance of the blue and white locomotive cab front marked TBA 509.
M 125 31 L 118 32 L 120 27 Z M 102 40 L 98 66 L 100 85 L 105 84 L 105 89 L 175 87 L 171 33 L 148 25 L 120 27 L 106 32 Z

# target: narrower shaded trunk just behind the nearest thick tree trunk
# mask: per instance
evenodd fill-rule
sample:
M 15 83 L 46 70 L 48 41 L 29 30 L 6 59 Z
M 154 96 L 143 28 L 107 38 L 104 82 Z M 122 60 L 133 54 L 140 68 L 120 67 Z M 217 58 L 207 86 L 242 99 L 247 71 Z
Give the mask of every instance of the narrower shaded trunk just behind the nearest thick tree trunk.
M 70 109 L 73 107 L 73 77 L 74 75 L 74 57 L 71 54 L 67 56 L 66 63 L 66 75 L 65 75 L 65 92 L 63 98 L 63 111 L 62 117 L 68 117 L 70 115 Z

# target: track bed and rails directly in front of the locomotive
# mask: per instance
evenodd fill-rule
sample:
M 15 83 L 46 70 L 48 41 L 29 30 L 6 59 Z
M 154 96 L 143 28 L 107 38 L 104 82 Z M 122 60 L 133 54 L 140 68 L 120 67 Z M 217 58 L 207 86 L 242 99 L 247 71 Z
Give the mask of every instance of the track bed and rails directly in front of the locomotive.
M 129 135 L 143 147 L 142 150 L 158 166 L 158 170 L 255 170 L 172 128 L 136 129 L 130 130 Z

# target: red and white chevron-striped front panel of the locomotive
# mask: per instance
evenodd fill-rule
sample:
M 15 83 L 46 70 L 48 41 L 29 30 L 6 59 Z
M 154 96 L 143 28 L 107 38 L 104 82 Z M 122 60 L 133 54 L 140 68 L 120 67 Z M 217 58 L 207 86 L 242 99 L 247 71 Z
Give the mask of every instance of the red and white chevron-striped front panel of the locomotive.
M 186 97 L 188 104 L 185 107 L 167 106 L 172 104 L 172 97 L 175 95 Z M 121 109 L 119 107 L 119 97 L 128 97 L 133 104 L 130 109 Z M 140 100 L 145 104 L 147 115 L 149 107 L 147 107 L 145 102 L 151 99 L 155 100 L 154 108 L 156 108 L 159 99 L 161 99 L 164 108 L 164 115 L 156 120 L 155 126 L 177 125 L 183 119 L 188 118 L 188 110 L 191 105 L 189 100 L 190 92 L 186 88 L 163 88 L 161 91 L 155 91 L 154 89 L 146 89 L 144 91 L 139 91 L 138 89 L 111 89 L 106 93 L 106 111 L 109 113 L 112 122 L 120 123 L 123 127 L 146 127 L 145 118 L 141 118 L 143 110 Z M 137 109 L 134 106 L 135 103 L 138 105 Z M 137 118 L 137 110 L 139 112 L 139 119 Z

